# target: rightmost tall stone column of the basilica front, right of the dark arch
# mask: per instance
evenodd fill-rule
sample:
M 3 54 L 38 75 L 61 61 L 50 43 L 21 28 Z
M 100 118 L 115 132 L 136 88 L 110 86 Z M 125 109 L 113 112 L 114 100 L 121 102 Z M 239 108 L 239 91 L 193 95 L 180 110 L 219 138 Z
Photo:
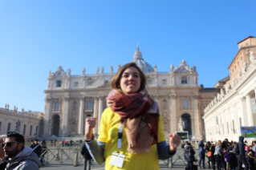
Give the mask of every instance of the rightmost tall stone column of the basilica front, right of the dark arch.
M 193 117 L 194 117 L 194 127 L 195 127 L 195 133 L 194 136 L 197 138 L 197 140 L 201 140 L 202 136 L 199 131 L 199 124 L 200 124 L 200 117 L 199 117 L 199 111 L 198 111 L 198 96 L 193 95 Z

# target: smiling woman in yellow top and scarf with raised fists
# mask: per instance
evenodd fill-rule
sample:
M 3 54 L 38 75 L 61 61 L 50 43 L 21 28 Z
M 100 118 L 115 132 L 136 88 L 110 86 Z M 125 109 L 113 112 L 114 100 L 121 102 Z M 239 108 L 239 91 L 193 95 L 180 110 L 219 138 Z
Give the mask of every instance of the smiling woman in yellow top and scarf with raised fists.
M 98 164 L 106 161 L 105 169 L 159 169 L 158 159 L 173 156 L 181 137 L 169 134 L 166 144 L 158 104 L 148 95 L 143 71 L 136 63 L 125 64 L 113 76 L 111 87 L 98 143 L 92 133 L 96 118 L 86 119 L 86 145 L 93 160 Z M 124 164 L 117 165 L 116 156 Z

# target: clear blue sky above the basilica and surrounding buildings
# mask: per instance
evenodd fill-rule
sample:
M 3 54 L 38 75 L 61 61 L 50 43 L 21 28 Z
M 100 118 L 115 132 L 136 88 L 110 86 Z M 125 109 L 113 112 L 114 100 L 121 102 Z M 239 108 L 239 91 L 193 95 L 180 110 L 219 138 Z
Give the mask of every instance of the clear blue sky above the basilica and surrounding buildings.
M 44 110 L 48 72 L 109 72 L 144 60 L 169 71 L 182 59 L 197 66 L 198 85 L 228 75 L 237 42 L 256 36 L 255 1 L 0 0 L 0 107 Z

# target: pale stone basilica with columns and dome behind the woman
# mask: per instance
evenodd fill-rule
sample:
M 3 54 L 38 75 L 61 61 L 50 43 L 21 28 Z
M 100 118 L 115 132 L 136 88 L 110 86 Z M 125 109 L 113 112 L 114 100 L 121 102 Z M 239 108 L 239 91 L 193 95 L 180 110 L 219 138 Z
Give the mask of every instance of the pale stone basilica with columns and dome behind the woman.
M 178 131 L 179 119 L 185 122 L 184 131 L 190 138 L 200 140 L 205 136 L 202 116 L 204 109 L 214 99 L 219 88 L 197 85 L 197 67 L 189 67 L 184 60 L 179 66 L 159 72 L 142 57 L 139 47 L 132 61 L 140 67 L 147 78 L 149 94 L 159 104 L 165 135 Z M 118 66 L 120 68 L 120 66 Z M 83 136 L 85 119 L 97 117 L 94 133 L 100 131 L 100 117 L 106 106 L 106 97 L 111 87 L 112 67 L 108 73 L 104 67 L 96 68 L 95 74 L 71 75 L 71 69 L 58 67 L 49 73 L 45 90 L 45 119 L 43 136 Z

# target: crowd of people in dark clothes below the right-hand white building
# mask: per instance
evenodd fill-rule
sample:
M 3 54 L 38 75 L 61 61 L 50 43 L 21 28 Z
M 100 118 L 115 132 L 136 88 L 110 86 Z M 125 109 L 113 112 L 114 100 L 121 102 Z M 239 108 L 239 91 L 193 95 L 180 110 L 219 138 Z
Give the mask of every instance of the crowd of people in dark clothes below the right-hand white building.
M 185 164 L 188 170 L 195 169 L 195 152 L 193 146 L 186 142 L 181 144 L 181 148 L 185 151 Z M 198 143 L 198 155 L 199 162 L 198 168 L 205 169 L 205 157 L 208 159 L 208 169 L 215 170 L 256 170 L 256 141 L 253 141 L 251 145 L 247 145 L 244 142 L 244 137 L 239 136 L 237 142 L 229 142 L 229 140 L 218 140 L 217 143 L 207 142 L 204 144 L 204 140 Z M 215 166 L 216 164 L 216 166 Z

